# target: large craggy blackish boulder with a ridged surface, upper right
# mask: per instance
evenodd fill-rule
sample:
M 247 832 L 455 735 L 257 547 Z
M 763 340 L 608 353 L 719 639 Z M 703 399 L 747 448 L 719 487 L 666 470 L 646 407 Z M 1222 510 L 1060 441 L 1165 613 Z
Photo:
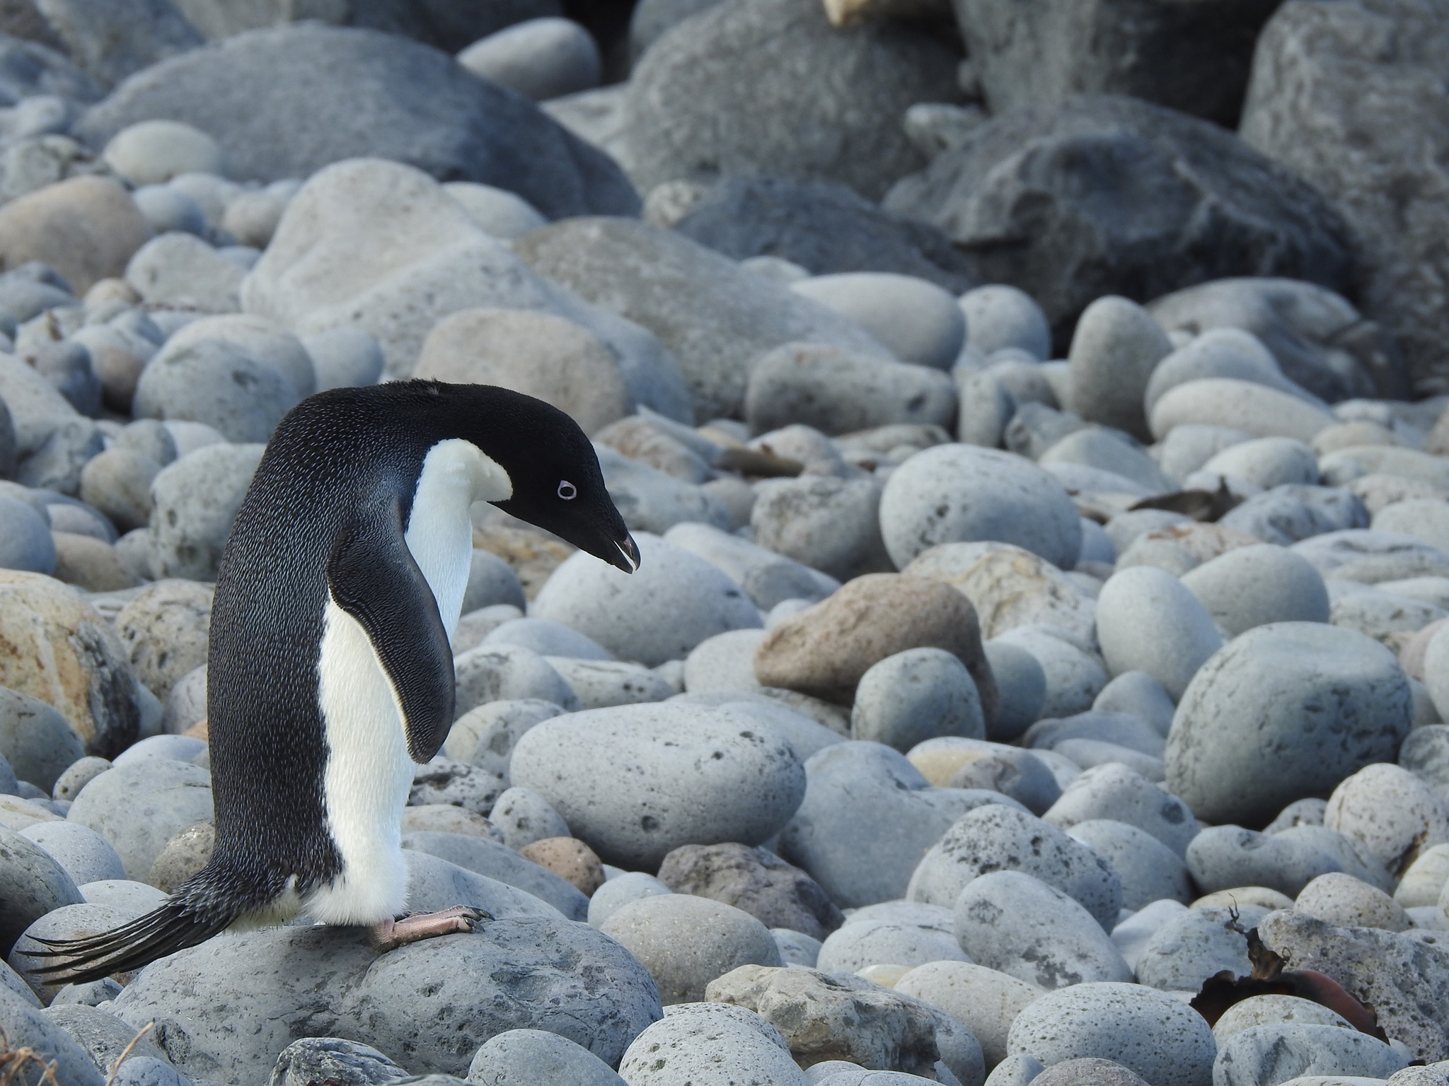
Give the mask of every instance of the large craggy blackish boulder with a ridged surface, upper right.
M 1114 96 L 1000 114 L 884 206 L 938 226 L 982 281 L 1036 298 L 1059 342 L 1104 294 L 1353 281 L 1348 227 L 1317 190 L 1216 125 Z

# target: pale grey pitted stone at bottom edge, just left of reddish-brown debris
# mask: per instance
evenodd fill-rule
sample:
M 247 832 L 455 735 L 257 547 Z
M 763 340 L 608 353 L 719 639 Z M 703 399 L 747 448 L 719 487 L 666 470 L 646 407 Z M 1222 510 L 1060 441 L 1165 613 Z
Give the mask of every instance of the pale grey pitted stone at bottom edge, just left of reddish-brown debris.
M 1116 1060 L 1153 1086 L 1208 1086 L 1217 1044 L 1203 1016 L 1165 992 L 1087 983 L 1023 1008 L 1007 1051 L 1035 1054 L 1048 1066 L 1094 1056 Z

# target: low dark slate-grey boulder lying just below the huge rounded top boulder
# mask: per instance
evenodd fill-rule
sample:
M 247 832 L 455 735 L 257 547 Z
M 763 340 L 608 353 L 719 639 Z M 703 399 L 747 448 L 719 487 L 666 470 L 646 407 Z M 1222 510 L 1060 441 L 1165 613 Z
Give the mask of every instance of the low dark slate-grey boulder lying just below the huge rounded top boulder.
M 897 272 L 953 294 L 977 285 L 971 261 L 940 230 L 882 211 L 845 185 L 729 177 L 674 229 L 736 261 L 780 256 L 816 275 Z

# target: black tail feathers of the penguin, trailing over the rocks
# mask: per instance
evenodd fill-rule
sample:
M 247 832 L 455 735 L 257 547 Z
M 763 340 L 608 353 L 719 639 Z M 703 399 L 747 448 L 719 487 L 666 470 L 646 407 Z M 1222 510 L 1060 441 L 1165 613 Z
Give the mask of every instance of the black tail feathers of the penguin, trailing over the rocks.
M 112 973 L 129 973 L 158 957 L 204 943 L 226 928 L 235 917 L 201 918 L 172 899 L 119 928 L 85 938 L 41 938 L 26 935 L 43 950 L 19 953 L 43 964 L 28 972 L 46 985 L 78 985 Z

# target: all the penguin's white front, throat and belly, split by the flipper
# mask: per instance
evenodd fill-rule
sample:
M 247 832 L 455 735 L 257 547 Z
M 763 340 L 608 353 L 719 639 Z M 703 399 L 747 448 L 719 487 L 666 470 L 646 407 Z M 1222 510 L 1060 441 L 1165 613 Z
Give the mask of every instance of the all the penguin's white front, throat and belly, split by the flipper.
M 498 501 L 513 485 L 475 445 L 449 439 L 423 460 L 403 540 L 427 586 L 449 641 L 472 566 L 474 501 Z M 375 924 L 407 904 L 403 808 L 413 783 L 401 707 L 362 626 L 327 599 L 317 660 L 326 727 L 323 801 L 342 873 L 309 895 L 306 908 L 327 924 Z

